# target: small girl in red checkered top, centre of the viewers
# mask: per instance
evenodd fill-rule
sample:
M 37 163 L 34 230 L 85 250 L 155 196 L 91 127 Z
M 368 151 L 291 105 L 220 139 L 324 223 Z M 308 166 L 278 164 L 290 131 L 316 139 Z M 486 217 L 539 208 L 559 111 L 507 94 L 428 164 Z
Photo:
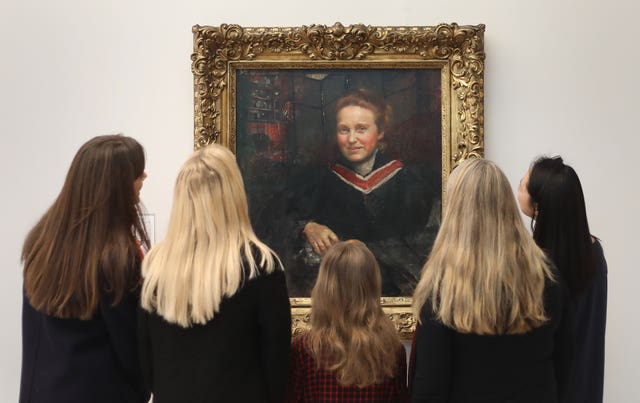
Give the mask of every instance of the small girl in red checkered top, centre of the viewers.
M 293 342 L 287 402 L 407 400 L 405 351 L 382 311 L 381 283 L 362 242 L 328 249 L 311 292 L 311 328 Z

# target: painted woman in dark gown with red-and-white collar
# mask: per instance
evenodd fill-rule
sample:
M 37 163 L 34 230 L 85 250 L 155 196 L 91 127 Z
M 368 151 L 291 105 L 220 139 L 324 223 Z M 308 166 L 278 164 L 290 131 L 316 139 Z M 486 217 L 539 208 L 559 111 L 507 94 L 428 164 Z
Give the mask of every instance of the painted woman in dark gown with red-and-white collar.
M 378 259 L 382 295 L 411 295 L 439 221 L 440 178 L 383 151 L 391 107 L 360 89 L 336 104 L 338 156 L 319 178 L 305 176 L 290 203 L 299 236 L 289 270 L 294 296 L 313 286 L 322 255 L 344 239 L 364 242 Z

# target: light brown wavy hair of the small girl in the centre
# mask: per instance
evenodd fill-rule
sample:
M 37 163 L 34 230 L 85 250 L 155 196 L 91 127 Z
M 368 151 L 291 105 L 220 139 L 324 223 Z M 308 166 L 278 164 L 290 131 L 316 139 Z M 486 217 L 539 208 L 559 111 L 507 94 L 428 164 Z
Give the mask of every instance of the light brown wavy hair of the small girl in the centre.
M 380 383 L 397 368 L 402 343 L 382 311 L 381 284 L 378 262 L 360 241 L 333 245 L 320 263 L 305 345 L 343 386 Z

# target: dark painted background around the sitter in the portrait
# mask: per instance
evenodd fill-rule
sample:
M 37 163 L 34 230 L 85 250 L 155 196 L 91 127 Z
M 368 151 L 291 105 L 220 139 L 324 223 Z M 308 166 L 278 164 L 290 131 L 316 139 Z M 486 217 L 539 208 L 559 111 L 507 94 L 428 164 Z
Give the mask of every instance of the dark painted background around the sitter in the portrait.
M 285 269 L 299 228 L 284 222 L 283 195 L 292 178 L 335 160 L 335 105 L 345 93 L 384 97 L 393 111 L 385 153 L 441 172 L 439 69 L 241 69 L 236 88 L 236 155 L 252 223 Z

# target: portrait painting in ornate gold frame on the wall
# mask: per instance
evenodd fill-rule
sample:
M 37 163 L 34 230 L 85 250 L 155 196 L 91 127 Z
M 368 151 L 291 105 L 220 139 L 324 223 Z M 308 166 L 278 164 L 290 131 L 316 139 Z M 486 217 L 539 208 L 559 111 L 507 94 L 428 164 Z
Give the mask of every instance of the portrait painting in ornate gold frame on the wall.
M 322 254 L 359 239 L 403 337 L 446 181 L 484 152 L 484 26 L 195 26 L 195 148 L 221 143 L 285 266 L 294 333 Z

